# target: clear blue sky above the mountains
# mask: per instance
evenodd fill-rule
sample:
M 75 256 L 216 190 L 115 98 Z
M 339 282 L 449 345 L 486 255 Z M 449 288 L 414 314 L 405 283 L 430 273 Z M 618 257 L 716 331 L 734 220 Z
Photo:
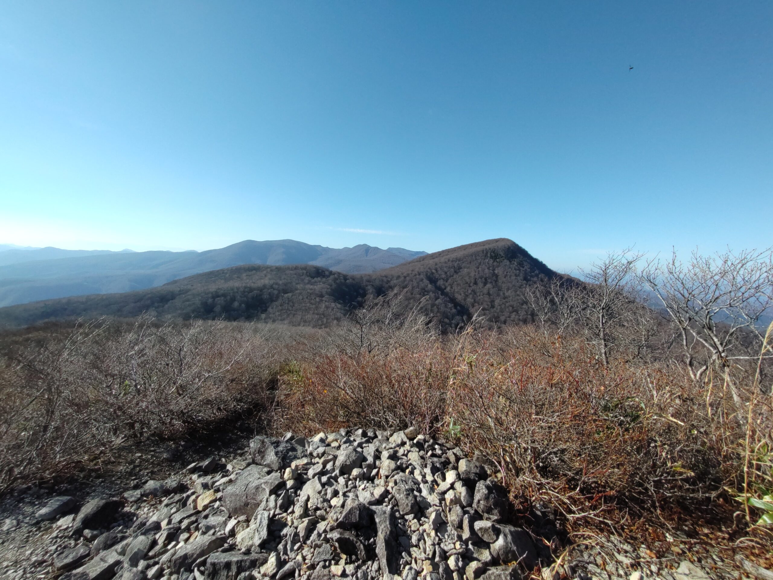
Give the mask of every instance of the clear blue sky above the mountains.
M 0 11 L 0 243 L 509 237 L 568 270 L 771 217 L 770 0 Z

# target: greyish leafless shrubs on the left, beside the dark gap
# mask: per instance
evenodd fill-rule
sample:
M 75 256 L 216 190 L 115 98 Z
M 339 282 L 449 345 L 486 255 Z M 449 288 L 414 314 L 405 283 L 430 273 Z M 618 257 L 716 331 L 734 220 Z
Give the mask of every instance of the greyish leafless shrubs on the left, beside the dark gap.
M 249 325 L 147 316 L 16 345 L 0 363 L 0 487 L 64 473 L 128 438 L 174 438 L 265 404 L 274 357 Z

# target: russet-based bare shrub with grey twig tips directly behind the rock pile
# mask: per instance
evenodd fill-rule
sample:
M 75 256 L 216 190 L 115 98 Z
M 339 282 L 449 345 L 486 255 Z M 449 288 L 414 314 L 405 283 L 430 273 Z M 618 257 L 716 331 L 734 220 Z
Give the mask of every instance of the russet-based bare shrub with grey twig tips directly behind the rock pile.
M 386 295 L 352 312 L 283 375 L 283 428 L 301 432 L 366 425 L 431 432 L 444 416 L 450 357 L 420 305 Z M 401 313 L 402 312 L 402 313 Z

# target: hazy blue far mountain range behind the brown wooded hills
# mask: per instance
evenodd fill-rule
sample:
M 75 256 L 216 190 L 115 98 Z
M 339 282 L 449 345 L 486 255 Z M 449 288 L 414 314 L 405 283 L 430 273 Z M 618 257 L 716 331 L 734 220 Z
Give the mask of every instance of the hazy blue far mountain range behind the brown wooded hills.
M 390 268 L 426 253 L 402 247 L 382 250 L 366 244 L 338 249 L 295 240 L 246 240 L 203 252 L 13 247 L 0 251 L 0 306 L 153 288 L 240 264 L 315 264 L 359 274 Z

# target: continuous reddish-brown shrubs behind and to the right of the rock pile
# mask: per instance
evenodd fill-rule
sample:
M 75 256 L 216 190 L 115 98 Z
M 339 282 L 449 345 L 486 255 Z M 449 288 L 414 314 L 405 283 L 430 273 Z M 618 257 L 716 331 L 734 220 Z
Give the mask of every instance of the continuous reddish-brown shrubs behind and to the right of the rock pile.
M 388 342 L 388 341 L 387 341 Z M 312 350 L 281 375 L 278 428 L 417 425 L 485 457 L 514 499 L 567 524 L 674 516 L 737 489 L 743 429 L 732 397 L 678 365 L 599 360 L 580 337 L 520 326 Z

